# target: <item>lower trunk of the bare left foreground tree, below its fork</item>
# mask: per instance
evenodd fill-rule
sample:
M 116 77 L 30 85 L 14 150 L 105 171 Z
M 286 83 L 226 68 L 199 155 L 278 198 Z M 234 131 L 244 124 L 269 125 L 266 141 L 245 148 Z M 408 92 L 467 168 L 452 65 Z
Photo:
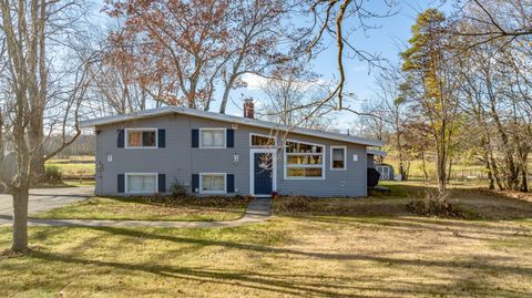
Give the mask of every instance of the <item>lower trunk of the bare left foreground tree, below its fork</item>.
M 13 196 L 13 243 L 14 253 L 28 251 L 28 199 L 29 188 L 22 186 L 12 192 Z

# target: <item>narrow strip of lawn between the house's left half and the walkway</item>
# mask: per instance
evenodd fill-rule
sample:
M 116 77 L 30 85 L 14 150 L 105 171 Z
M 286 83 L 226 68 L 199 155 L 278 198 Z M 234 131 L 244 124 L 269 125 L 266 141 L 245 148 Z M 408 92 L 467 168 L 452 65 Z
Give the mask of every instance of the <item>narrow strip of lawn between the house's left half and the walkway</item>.
M 211 222 L 234 220 L 244 215 L 246 198 L 172 199 L 161 197 L 93 197 L 33 215 L 34 218 L 137 219 Z

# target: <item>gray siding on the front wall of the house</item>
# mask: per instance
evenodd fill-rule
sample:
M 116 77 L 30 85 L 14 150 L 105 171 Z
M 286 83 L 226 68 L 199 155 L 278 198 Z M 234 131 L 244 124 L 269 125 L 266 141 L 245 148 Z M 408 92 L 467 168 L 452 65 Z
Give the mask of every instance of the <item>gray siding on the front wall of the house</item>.
M 119 148 L 117 130 L 151 127 L 166 130 L 164 148 Z M 192 174 L 227 173 L 235 175 L 235 193 L 249 194 L 249 133 L 269 134 L 269 130 L 238 125 L 234 134 L 235 147 L 192 147 L 192 130 L 207 127 L 232 129 L 231 123 L 188 115 L 166 115 L 127 123 L 96 126 L 96 194 L 119 195 L 117 175 L 125 173 L 158 173 L 166 175 L 166 188 L 177 181 L 188 192 Z M 287 138 L 325 146 L 325 179 L 284 179 L 283 153 L 277 160 L 277 191 L 279 194 L 308 196 L 365 196 L 367 194 L 366 146 L 290 134 Z M 330 146 L 347 146 L 347 169 L 330 171 Z M 108 162 L 108 155 L 113 156 Z M 234 155 L 238 162 L 234 163 Z M 358 162 L 352 155 L 358 155 Z M 344 184 L 344 185 L 342 185 Z

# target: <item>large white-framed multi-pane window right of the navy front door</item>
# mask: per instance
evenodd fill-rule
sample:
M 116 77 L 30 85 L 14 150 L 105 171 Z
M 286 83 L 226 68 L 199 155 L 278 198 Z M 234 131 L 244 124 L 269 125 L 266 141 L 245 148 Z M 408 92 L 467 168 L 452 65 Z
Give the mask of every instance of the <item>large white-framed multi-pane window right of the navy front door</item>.
M 324 146 L 287 141 L 285 178 L 324 178 Z

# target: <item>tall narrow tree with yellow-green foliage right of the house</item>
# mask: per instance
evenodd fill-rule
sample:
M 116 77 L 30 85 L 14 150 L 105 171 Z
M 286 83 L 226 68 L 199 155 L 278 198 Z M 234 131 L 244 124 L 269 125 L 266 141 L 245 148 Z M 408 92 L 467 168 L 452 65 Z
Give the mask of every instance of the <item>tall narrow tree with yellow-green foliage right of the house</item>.
M 434 9 L 420 13 L 412 25 L 411 48 L 401 53 L 402 70 L 408 73 L 405 90 L 416 103 L 412 111 L 419 122 L 428 124 L 432 135 L 440 193 L 446 192 L 460 81 L 451 68 L 452 52 L 448 47 L 446 25 L 444 16 Z

